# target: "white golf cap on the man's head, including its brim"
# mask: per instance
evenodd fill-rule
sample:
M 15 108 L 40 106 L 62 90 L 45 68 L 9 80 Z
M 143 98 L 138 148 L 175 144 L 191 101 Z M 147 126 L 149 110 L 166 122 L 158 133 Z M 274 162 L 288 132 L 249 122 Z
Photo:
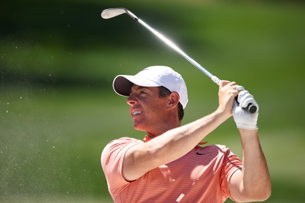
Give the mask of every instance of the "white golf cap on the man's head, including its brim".
M 187 89 L 182 76 L 167 66 L 151 66 L 136 75 L 118 75 L 113 81 L 115 92 L 129 96 L 133 84 L 143 87 L 166 87 L 171 92 L 177 92 L 183 109 L 188 102 Z

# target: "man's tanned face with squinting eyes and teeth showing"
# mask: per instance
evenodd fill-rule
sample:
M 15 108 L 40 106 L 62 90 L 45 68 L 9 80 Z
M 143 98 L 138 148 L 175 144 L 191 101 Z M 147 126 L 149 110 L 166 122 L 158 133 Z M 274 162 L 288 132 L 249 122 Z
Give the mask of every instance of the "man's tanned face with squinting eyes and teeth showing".
M 166 124 L 167 97 L 159 97 L 158 87 L 133 85 L 126 100 L 136 130 L 158 134 Z

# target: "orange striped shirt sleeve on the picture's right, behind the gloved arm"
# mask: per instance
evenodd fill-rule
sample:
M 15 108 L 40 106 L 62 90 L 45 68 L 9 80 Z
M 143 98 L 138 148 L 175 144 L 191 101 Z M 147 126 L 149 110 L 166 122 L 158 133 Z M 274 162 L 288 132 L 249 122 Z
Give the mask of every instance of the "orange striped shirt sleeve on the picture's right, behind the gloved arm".
M 243 163 L 238 156 L 233 154 L 233 152 L 230 151 L 230 149 L 226 148 L 226 151 L 224 152 L 224 160 L 223 165 L 221 169 L 221 188 L 224 191 L 224 193 L 229 197 L 231 200 L 236 202 L 229 191 L 229 180 L 231 176 L 237 171 L 242 169 Z

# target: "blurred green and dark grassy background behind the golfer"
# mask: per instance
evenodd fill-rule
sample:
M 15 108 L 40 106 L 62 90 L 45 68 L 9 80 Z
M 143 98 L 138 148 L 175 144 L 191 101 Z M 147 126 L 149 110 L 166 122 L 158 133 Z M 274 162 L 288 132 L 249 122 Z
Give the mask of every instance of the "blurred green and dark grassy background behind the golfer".
M 116 75 L 170 66 L 188 87 L 183 124 L 216 109 L 218 87 L 207 76 L 127 15 L 102 19 L 112 7 L 255 96 L 273 183 L 266 202 L 304 203 L 305 4 L 275 0 L 1 2 L 0 202 L 113 202 L 101 151 L 145 135 L 112 90 Z M 206 140 L 242 157 L 233 119 Z

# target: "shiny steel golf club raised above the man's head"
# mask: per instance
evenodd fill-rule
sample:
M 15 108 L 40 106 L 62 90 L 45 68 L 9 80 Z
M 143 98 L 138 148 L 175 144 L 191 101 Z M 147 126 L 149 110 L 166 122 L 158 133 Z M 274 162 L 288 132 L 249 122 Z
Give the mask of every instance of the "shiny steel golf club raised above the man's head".
M 109 8 L 102 11 L 101 16 L 104 19 L 109 19 L 116 17 L 118 15 L 121 15 L 123 13 L 126 13 L 129 15 L 132 19 L 139 22 L 141 25 L 143 25 L 145 28 L 149 29 L 154 35 L 156 35 L 159 39 L 161 39 L 163 42 L 165 42 L 168 46 L 170 46 L 172 49 L 174 49 L 176 52 L 178 52 L 181 56 L 183 56 L 185 59 L 187 59 L 189 62 L 191 62 L 195 67 L 197 67 L 199 70 L 201 70 L 204 74 L 206 74 L 208 77 L 212 79 L 214 83 L 216 83 L 219 86 L 220 79 L 211 74 L 208 70 L 206 70 L 203 66 L 201 66 L 199 63 L 197 63 L 194 59 L 187 56 L 179 47 L 177 47 L 172 41 L 167 39 L 165 36 L 157 32 L 155 29 L 152 29 L 149 25 L 147 25 L 145 22 L 143 22 L 141 19 L 139 19 L 136 15 L 134 15 L 132 12 L 127 10 L 126 8 Z M 237 100 L 237 99 L 236 99 Z M 248 104 L 248 106 L 245 108 L 247 109 L 251 114 L 255 113 L 257 110 L 257 107 L 254 104 Z

